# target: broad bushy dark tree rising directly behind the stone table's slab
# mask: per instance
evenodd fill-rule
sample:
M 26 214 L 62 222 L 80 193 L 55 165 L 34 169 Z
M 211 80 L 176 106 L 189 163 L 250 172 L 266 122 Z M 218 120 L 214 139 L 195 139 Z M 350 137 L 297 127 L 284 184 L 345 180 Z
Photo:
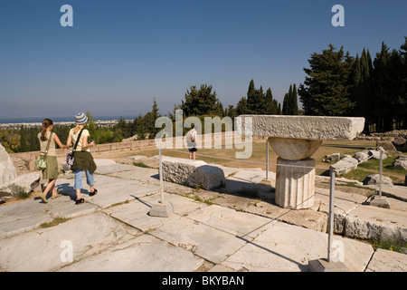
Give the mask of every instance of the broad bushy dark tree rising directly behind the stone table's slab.
M 354 59 L 341 47 L 335 52 L 332 44 L 322 53 L 313 53 L 304 84 L 298 87 L 305 114 L 317 116 L 351 115 L 355 102 L 351 95 L 350 72 Z

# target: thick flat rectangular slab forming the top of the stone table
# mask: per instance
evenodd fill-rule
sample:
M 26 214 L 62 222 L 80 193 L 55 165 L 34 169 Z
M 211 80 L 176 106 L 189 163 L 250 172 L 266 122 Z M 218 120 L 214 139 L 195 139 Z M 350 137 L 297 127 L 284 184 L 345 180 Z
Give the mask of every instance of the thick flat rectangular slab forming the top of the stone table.
M 364 130 L 364 118 L 241 115 L 238 132 L 245 132 L 251 118 L 252 136 L 306 140 L 353 140 Z

